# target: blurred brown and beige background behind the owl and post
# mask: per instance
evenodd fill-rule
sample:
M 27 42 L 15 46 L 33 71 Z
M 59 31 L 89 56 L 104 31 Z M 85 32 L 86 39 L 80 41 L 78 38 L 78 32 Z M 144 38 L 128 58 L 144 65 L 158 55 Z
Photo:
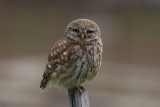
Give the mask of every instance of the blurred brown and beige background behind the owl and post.
M 160 1 L 0 0 L 0 107 L 69 107 L 39 88 L 48 50 L 77 18 L 102 32 L 103 63 L 85 86 L 91 107 L 160 107 Z

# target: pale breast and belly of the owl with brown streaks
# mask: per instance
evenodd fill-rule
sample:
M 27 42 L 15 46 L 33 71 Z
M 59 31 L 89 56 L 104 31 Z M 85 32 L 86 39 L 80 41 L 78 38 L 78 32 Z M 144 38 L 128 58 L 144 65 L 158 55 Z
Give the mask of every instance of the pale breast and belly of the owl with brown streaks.
M 95 44 L 74 45 L 69 52 L 67 70 L 57 79 L 58 86 L 73 88 L 92 80 L 101 65 L 102 50 Z M 75 61 L 74 61 L 75 60 Z M 71 63 L 74 62 L 74 63 Z

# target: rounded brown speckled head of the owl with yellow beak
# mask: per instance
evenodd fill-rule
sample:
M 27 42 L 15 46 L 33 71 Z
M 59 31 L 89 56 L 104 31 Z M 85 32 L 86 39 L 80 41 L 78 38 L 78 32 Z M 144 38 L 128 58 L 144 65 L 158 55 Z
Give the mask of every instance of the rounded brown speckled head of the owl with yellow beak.
M 100 29 L 91 20 L 77 19 L 68 24 L 65 37 L 77 43 L 89 43 L 100 38 Z

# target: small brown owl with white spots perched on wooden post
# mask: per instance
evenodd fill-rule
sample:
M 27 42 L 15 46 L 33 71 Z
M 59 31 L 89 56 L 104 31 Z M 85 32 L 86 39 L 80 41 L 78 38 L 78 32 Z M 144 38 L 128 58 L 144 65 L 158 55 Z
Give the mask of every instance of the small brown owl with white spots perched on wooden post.
M 95 22 L 88 19 L 72 21 L 64 37 L 49 51 L 40 88 L 72 89 L 92 80 L 101 66 L 102 50 L 100 29 Z

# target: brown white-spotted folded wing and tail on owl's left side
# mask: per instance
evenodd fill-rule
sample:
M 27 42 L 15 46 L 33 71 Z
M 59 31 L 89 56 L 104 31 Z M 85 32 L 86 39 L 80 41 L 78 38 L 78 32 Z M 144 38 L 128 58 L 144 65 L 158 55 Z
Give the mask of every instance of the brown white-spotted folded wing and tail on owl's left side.
M 60 72 L 60 70 L 58 70 L 60 69 L 60 65 L 63 65 L 68 60 L 69 49 L 70 44 L 65 39 L 61 39 L 53 45 L 48 54 L 48 62 L 46 63 L 40 88 L 44 89 L 51 77 L 56 79 Z

